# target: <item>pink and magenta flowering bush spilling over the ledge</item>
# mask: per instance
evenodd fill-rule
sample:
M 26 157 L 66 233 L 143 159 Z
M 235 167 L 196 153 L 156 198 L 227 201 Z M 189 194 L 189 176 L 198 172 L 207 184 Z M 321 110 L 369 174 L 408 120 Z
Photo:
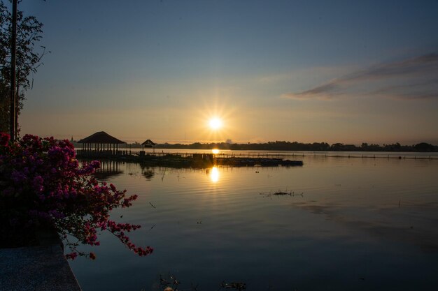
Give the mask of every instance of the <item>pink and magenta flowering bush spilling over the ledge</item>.
M 97 234 L 104 230 L 138 255 L 149 255 L 153 248 L 138 247 L 126 235 L 140 225 L 110 219 L 112 209 L 131 206 L 137 196 L 128 197 L 113 184 L 99 183 L 92 175 L 99 167 L 98 161 L 80 166 L 68 140 L 24 135 L 11 142 L 0 133 L 1 220 L 13 227 L 55 227 L 71 249 L 66 258 L 86 255 L 94 260 L 94 253 L 82 253 L 77 246 L 98 246 Z M 70 243 L 69 236 L 78 242 Z

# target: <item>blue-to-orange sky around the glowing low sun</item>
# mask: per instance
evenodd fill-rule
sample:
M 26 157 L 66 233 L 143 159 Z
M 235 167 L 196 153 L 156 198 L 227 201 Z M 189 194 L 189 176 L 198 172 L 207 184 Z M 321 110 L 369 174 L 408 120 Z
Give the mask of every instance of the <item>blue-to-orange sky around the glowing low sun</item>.
M 438 1 L 23 0 L 22 134 L 438 144 Z M 209 128 L 217 117 L 222 127 Z

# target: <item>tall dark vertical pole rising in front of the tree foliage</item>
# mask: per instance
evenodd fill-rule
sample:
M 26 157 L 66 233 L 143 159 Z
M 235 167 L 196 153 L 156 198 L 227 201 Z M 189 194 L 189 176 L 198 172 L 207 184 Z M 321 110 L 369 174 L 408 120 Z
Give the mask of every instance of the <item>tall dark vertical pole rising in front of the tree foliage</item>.
M 12 36 L 10 37 L 10 140 L 15 140 L 15 114 L 17 114 L 15 107 L 15 64 L 17 52 L 17 0 L 12 1 Z

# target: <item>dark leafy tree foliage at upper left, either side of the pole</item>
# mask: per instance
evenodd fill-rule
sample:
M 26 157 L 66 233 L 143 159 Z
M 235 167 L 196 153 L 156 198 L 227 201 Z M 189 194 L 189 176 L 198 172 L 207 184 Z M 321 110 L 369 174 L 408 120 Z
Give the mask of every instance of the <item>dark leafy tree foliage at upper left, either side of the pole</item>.
M 24 16 L 17 11 L 17 112 L 23 107 L 24 93 L 31 88 L 31 75 L 41 66 L 45 47 L 37 47 L 42 38 L 43 24 L 34 16 Z M 12 15 L 0 0 L 0 131 L 9 130 L 10 110 L 10 44 L 12 36 Z

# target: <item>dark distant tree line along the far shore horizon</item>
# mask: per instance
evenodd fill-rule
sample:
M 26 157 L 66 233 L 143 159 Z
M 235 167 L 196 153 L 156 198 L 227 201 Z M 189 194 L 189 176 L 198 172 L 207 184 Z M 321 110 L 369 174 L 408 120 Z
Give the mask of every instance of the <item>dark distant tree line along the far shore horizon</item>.
M 438 146 L 421 142 L 413 145 L 395 144 L 367 144 L 355 146 L 354 144 L 327 142 L 266 142 L 258 144 L 229 144 L 226 142 L 206 143 L 195 142 L 193 144 L 157 144 L 156 149 L 231 149 L 233 151 L 438 151 Z

